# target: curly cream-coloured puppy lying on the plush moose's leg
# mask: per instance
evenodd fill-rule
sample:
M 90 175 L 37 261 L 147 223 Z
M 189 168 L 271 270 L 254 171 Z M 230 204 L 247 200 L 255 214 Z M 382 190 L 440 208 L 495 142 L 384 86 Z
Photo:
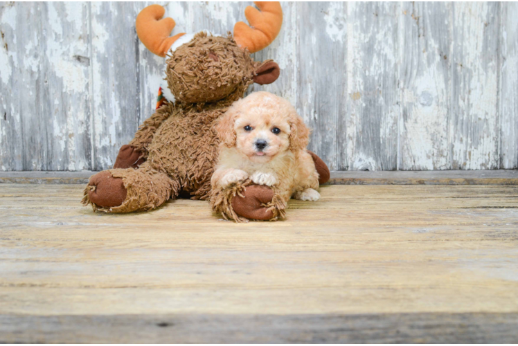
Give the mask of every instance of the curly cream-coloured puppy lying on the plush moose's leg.
M 287 202 L 320 198 L 319 174 L 307 152 L 310 130 L 283 98 L 260 91 L 234 102 L 216 126 L 220 156 L 213 188 L 251 179 L 276 187 Z

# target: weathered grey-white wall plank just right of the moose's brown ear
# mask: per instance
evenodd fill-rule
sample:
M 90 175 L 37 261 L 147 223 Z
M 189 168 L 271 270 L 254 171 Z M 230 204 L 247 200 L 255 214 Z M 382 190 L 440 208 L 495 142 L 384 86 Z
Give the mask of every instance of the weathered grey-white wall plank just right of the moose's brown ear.
M 330 170 L 346 163 L 346 3 L 301 2 L 298 21 L 298 110 L 312 128 L 310 149 Z M 308 25 L 311 23 L 311 25 Z

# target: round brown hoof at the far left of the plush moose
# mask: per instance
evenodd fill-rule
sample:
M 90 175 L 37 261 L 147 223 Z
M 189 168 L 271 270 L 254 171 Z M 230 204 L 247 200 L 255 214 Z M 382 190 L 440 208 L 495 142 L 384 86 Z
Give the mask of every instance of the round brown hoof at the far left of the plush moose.
M 90 177 L 88 198 L 102 208 L 120 206 L 126 198 L 127 190 L 123 179 L 114 178 L 109 171 L 102 171 Z

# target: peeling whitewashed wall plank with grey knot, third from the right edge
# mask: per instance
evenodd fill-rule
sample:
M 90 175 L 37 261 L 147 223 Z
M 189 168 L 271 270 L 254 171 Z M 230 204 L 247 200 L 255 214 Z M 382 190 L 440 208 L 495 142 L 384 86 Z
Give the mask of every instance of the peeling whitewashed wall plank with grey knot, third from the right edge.
M 403 2 L 400 170 L 451 169 L 450 2 Z

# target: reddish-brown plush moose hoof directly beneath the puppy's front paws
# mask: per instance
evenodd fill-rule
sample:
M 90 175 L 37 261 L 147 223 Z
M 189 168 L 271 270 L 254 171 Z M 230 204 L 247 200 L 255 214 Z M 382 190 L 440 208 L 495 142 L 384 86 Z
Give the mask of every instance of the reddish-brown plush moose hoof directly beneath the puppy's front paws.
M 232 208 L 240 217 L 252 220 L 269 220 L 274 217 L 274 212 L 261 206 L 274 198 L 271 188 L 265 185 L 249 185 L 242 195 L 244 197 L 236 195 L 232 199 Z

